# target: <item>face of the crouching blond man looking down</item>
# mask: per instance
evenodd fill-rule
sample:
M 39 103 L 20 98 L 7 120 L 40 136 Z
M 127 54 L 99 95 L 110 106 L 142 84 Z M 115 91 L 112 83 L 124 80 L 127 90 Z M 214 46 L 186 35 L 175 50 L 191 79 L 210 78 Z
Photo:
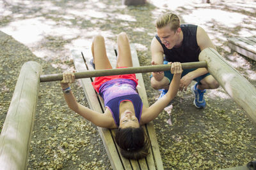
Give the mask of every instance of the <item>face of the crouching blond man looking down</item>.
M 172 31 L 170 29 L 170 25 L 166 25 L 165 27 L 157 29 L 157 35 L 159 36 L 161 42 L 168 49 L 172 49 L 173 46 L 178 45 L 179 43 L 179 32 Z

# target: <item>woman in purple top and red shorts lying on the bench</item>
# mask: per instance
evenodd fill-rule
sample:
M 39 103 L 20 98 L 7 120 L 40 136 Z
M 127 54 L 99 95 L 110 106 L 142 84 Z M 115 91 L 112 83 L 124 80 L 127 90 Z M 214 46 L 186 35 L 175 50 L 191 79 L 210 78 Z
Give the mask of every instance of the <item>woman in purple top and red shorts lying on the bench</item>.
M 124 32 L 118 34 L 117 44 L 116 67 L 132 67 L 129 39 Z M 92 54 L 95 69 L 112 69 L 106 54 L 104 38 L 100 35 L 93 39 Z M 63 73 L 61 87 L 70 109 L 99 127 L 118 128 L 115 140 L 120 147 L 121 154 L 127 159 L 141 159 L 148 155 L 150 146 L 150 141 L 141 125 L 154 120 L 172 101 L 179 90 L 182 73 L 180 62 L 173 62 L 171 71 L 174 76 L 167 94 L 149 108 L 143 105 L 140 96 L 136 92 L 138 80 L 135 74 L 95 78 L 92 84 L 104 99 L 106 110 L 103 114 L 77 103 L 68 85 L 68 83 L 74 82 L 74 73 Z

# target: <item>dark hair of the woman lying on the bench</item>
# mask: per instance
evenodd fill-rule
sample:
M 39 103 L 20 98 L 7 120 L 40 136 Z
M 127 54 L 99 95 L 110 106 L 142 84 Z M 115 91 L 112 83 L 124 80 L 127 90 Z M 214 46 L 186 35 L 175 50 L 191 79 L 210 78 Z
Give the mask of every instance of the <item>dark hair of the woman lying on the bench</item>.
M 142 159 L 149 153 L 150 141 L 143 127 L 119 128 L 115 139 L 122 156 L 127 159 Z

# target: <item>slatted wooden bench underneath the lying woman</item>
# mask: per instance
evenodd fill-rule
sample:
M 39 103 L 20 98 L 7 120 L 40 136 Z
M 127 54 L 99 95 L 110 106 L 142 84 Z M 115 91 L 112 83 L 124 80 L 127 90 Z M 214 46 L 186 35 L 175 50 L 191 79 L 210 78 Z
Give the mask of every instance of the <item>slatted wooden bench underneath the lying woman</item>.
M 116 55 L 114 48 L 109 48 L 107 46 L 107 54 L 111 65 L 116 66 Z M 132 62 L 134 67 L 140 66 L 138 56 L 135 50 L 135 46 L 131 45 Z M 83 50 L 72 50 L 72 56 L 74 60 L 74 65 L 77 72 L 92 70 L 92 66 L 89 64 L 90 59 L 92 59 L 92 52 L 90 48 Z M 86 64 L 87 63 L 87 64 Z M 144 86 L 144 81 L 142 74 L 136 74 L 138 78 L 138 93 L 145 106 L 148 106 L 147 94 Z M 83 85 L 84 94 L 86 95 L 87 101 L 90 108 L 95 111 L 104 112 L 104 102 L 101 97 L 95 92 L 92 87 L 92 81 L 94 78 L 83 78 L 81 83 Z M 120 149 L 115 142 L 115 129 L 106 129 L 98 127 L 100 136 L 108 153 L 108 157 L 113 169 L 163 169 L 163 162 L 161 160 L 161 155 L 159 152 L 159 146 L 157 143 L 156 133 L 154 131 L 153 122 L 148 123 L 143 126 L 147 132 L 148 137 L 151 141 L 150 154 L 145 159 L 140 160 L 129 160 L 122 157 L 120 154 Z

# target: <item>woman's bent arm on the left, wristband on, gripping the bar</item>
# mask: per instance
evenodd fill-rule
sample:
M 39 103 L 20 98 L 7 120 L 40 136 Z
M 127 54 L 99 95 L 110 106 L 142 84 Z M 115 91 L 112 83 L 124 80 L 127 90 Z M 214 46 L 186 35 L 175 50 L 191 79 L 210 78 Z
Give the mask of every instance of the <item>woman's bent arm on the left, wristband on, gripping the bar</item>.
M 74 73 L 63 73 L 63 80 L 60 83 L 61 88 L 67 89 L 69 87 L 69 83 L 73 83 L 74 80 Z M 99 127 L 113 127 L 111 118 L 109 118 L 108 115 L 90 110 L 89 108 L 86 108 L 85 106 L 77 103 L 76 97 L 74 97 L 74 94 L 71 90 L 69 90 L 68 92 L 63 92 L 63 94 L 65 97 L 65 101 L 71 110 L 75 111 L 76 113 Z

